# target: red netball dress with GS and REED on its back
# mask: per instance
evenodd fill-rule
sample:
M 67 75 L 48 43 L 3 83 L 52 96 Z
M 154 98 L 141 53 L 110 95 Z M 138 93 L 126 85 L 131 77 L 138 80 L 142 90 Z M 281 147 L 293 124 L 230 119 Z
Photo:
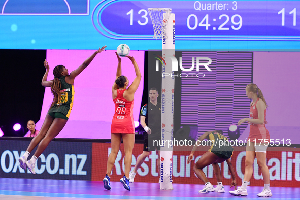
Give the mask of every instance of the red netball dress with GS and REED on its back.
M 115 103 L 115 114 L 112 120 L 112 134 L 134 134 L 135 122 L 132 110 L 134 109 L 134 101 L 127 101 L 123 97 L 125 89 L 117 90 L 117 97 L 113 99 Z

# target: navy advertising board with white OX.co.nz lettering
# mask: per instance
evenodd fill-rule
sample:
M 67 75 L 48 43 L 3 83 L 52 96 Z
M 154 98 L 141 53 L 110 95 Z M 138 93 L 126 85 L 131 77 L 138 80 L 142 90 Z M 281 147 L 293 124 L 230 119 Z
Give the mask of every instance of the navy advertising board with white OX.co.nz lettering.
M 19 166 L 30 141 L 0 140 L 0 177 L 91 180 L 91 144 L 51 142 L 36 163 L 36 174 Z M 32 151 L 28 159 L 34 155 Z

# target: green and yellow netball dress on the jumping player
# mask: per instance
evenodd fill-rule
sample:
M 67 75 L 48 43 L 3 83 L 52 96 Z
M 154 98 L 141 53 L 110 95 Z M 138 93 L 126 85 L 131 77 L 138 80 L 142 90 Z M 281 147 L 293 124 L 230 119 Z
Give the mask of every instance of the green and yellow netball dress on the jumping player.
M 60 103 L 54 104 L 53 107 L 49 109 L 48 113 L 60 112 L 69 118 L 74 101 L 74 85 L 66 83 L 64 80 L 65 76 L 61 76 L 58 79 L 61 83 L 61 101 Z

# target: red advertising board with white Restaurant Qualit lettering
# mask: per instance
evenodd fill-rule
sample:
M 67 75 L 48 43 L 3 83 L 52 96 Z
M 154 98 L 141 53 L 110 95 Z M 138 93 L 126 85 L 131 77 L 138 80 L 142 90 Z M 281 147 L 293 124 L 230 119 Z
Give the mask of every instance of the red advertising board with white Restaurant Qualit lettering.
M 231 157 L 232 165 L 235 169 L 235 176 L 238 185 L 242 184 L 245 172 L 245 147 L 236 147 Z M 289 151 L 290 149 L 290 151 Z M 300 151 L 294 151 L 294 148 L 285 148 L 286 151 L 268 151 L 266 163 L 270 171 L 271 187 L 298 187 L 300 184 Z M 143 144 L 135 144 L 132 152 L 132 167 L 134 169 L 138 156 L 143 151 Z M 93 143 L 92 158 L 92 181 L 102 181 L 106 175 L 107 157 L 111 152 L 109 143 Z M 194 159 L 190 164 L 187 163 L 189 151 L 173 151 L 173 183 L 181 184 L 201 184 L 204 183 L 196 177 L 193 172 L 194 163 L 206 151 L 196 151 Z M 111 181 L 119 181 L 124 175 L 124 147 L 121 144 L 115 165 L 113 167 Z M 135 182 L 158 182 L 159 170 L 157 167 L 158 155 L 152 151 L 137 171 Z M 220 164 L 222 182 L 224 185 L 230 185 L 232 178 L 226 162 Z M 213 173 L 212 165 L 203 169 L 209 181 L 216 185 L 217 179 Z M 257 165 L 257 159 L 254 160 L 253 175 L 250 180 L 250 186 L 263 186 L 261 171 Z

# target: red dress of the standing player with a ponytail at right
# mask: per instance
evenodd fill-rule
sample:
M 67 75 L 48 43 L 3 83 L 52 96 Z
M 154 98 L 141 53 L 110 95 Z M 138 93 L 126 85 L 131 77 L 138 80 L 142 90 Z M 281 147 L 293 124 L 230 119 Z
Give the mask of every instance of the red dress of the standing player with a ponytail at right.
M 256 108 L 256 104 L 258 102 L 259 98 L 257 98 L 256 102 L 250 107 L 250 118 L 251 119 L 258 119 L 258 112 Z M 266 129 L 265 125 L 266 123 L 266 109 L 264 110 L 264 119 L 263 119 L 263 124 L 253 124 L 248 122 L 250 124 L 250 134 L 248 137 L 248 140 L 250 139 L 251 142 L 255 142 L 254 139 L 256 139 L 256 143 L 260 143 L 261 139 L 263 139 L 262 143 L 264 141 L 270 142 L 270 134 L 269 131 Z M 264 140 L 268 139 L 268 140 Z

